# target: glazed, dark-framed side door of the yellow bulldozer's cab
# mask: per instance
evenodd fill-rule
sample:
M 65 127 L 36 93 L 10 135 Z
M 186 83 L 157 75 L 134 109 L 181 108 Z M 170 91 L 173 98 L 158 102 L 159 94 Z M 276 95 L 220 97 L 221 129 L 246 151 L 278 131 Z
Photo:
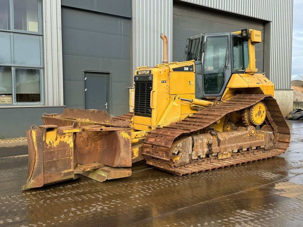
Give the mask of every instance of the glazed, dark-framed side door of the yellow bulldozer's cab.
M 203 96 L 221 97 L 231 77 L 230 33 L 205 34 L 202 45 Z

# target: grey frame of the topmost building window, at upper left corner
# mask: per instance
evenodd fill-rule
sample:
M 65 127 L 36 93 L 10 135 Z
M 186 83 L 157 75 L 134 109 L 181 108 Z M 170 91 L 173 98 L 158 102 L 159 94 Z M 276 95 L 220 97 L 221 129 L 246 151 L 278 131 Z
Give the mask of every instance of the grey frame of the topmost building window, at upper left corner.
M 37 1 L 38 1 L 38 32 L 24 31 L 14 28 L 14 0 L 9 0 L 9 20 L 10 20 L 9 28 L 10 29 L 0 29 L 0 31 L 42 35 L 42 0 L 37 0 Z

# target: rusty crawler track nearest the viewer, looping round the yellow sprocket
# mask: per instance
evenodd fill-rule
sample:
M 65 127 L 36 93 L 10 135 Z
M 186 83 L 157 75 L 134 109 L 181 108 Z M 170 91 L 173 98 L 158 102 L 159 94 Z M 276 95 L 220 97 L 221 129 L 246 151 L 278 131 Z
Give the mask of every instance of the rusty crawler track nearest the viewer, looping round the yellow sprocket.
M 254 152 L 247 151 L 243 154 L 235 153 L 231 158 L 225 160 L 205 158 L 202 161 L 194 160 L 184 166 L 174 166 L 174 163 L 170 160 L 170 149 L 172 143 L 178 140 L 178 137 L 205 129 L 226 114 L 233 111 L 244 110 L 259 101 L 262 101 L 267 107 L 265 121 L 274 130 L 274 148 L 266 150 L 265 153 L 259 150 L 255 150 Z M 148 164 L 181 176 L 183 174 L 204 172 L 205 170 L 272 158 L 284 153 L 289 145 L 289 141 L 290 131 L 288 125 L 274 98 L 261 94 L 239 94 L 214 107 L 207 107 L 200 110 L 185 120 L 151 131 L 143 142 L 142 154 Z

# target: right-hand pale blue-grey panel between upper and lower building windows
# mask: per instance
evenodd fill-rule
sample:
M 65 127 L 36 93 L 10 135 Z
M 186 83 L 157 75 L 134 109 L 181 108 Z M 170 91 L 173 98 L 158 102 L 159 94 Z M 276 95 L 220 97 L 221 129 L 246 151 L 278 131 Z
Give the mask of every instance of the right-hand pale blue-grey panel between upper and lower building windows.
M 13 33 L 14 64 L 43 66 L 39 35 Z

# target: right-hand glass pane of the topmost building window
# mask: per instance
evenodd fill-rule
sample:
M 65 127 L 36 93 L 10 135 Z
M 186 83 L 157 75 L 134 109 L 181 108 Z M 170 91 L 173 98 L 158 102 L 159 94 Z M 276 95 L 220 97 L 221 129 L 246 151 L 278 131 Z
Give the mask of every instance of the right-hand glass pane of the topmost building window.
M 14 29 L 38 32 L 38 0 L 14 1 Z

